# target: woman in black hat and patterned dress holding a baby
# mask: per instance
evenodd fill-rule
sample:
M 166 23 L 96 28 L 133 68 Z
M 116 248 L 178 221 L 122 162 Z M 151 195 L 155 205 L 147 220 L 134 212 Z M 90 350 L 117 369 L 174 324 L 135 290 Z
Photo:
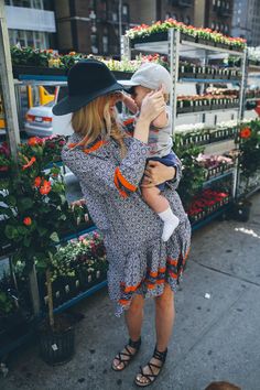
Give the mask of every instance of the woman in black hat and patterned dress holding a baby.
M 112 369 L 123 370 L 141 345 L 144 297 L 155 300 L 156 346 L 149 364 L 136 377 L 140 387 L 161 372 L 174 322 L 174 291 L 189 248 L 191 227 L 175 189 L 181 166 L 152 162 L 145 169 L 150 123 L 164 110 L 162 91 L 142 102 L 133 137 L 119 124 L 115 102 L 122 90 L 105 64 L 78 62 L 68 74 L 68 96 L 53 109 L 73 112 L 74 136 L 63 150 L 65 164 L 78 177 L 88 210 L 102 232 L 109 262 L 108 289 L 116 315 L 126 310 L 129 343 L 116 356 Z M 116 94 L 117 91 L 117 94 Z M 143 202 L 139 185 L 167 181 L 164 196 L 180 219 L 167 242 L 161 240 L 162 223 Z

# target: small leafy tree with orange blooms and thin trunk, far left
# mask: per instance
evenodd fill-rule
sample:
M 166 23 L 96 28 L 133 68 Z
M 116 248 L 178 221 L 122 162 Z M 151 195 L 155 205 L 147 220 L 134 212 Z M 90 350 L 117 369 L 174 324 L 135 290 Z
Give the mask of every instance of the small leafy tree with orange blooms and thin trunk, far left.
M 72 210 L 65 197 L 61 166 L 55 164 L 56 154 L 50 153 L 53 141 L 50 142 L 32 138 L 20 145 L 18 164 L 10 159 L 9 176 L 0 187 L 0 212 L 6 223 L 4 234 L 14 250 L 14 262 L 22 262 L 25 271 L 35 264 L 46 273 L 53 327 L 51 268 L 59 231 L 71 223 Z M 62 145 L 63 142 L 58 148 Z

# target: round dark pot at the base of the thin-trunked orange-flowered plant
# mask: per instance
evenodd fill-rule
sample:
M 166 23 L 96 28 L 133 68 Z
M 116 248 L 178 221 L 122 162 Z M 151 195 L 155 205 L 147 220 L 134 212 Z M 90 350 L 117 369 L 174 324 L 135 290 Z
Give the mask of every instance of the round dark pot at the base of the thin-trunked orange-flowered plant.
M 75 351 L 75 329 L 69 317 L 59 315 L 54 329 L 45 323 L 39 332 L 40 356 L 51 366 L 69 361 Z

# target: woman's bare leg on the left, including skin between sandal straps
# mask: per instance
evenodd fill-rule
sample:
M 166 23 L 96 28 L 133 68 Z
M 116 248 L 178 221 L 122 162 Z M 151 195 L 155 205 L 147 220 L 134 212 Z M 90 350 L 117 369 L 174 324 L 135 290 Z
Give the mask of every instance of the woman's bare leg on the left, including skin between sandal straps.
M 141 336 L 141 328 L 142 328 L 142 321 L 143 321 L 143 304 L 144 304 L 143 296 L 137 294 L 133 296 L 130 307 L 124 313 L 124 319 L 128 327 L 129 337 L 133 342 L 138 342 Z M 137 348 L 132 348 L 129 345 L 128 345 L 128 349 L 132 355 L 134 355 L 134 353 L 137 351 Z M 126 348 L 123 348 L 121 353 L 128 354 Z M 128 358 L 127 356 L 124 356 L 123 359 L 129 360 L 130 357 Z M 113 359 L 112 366 L 118 370 L 124 368 L 123 362 L 120 362 L 120 360 L 117 357 Z

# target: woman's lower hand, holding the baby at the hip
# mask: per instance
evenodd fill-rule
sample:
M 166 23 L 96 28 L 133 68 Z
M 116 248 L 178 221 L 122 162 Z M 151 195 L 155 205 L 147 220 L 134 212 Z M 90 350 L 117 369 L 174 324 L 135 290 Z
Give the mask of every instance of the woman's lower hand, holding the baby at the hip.
M 141 187 L 151 188 L 175 177 L 174 166 L 166 166 L 159 161 L 150 160 L 145 166 Z

